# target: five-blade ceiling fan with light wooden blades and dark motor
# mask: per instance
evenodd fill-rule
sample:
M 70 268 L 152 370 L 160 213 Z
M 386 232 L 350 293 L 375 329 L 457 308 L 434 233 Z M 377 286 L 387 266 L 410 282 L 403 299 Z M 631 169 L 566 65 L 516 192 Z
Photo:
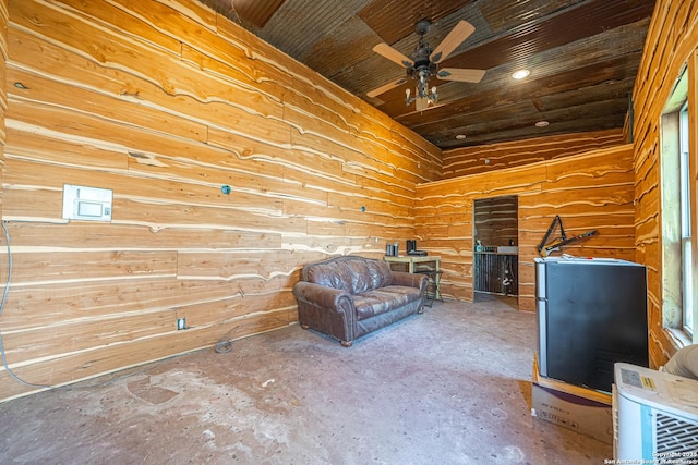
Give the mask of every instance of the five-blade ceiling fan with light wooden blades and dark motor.
M 433 86 L 431 89 L 429 88 L 429 78 L 431 76 L 436 76 L 443 81 L 459 81 L 464 83 L 479 83 L 482 79 L 485 73 L 484 70 L 456 68 L 438 69 L 438 63 L 444 61 L 450 52 L 453 52 L 476 30 L 472 24 L 464 20 L 459 21 L 435 49 L 432 49 L 429 44 L 424 41 L 424 35 L 429 32 L 431 22 L 429 20 L 422 20 L 417 23 L 414 30 L 419 34 L 419 44 L 414 47 L 414 50 L 410 53 L 409 58 L 385 42 L 381 42 L 373 47 L 373 51 L 376 53 L 401 66 L 405 66 L 407 70 L 407 77 L 402 77 L 371 90 L 366 94 L 369 98 L 376 97 L 395 87 L 401 86 L 408 78 L 412 78 L 417 81 L 416 95 L 414 97 L 410 97 L 410 89 L 408 88 L 405 91 L 405 102 L 406 105 L 416 102 L 417 111 L 422 111 L 426 109 L 429 103 L 436 105 L 436 100 L 438 99 L 436 86 Z

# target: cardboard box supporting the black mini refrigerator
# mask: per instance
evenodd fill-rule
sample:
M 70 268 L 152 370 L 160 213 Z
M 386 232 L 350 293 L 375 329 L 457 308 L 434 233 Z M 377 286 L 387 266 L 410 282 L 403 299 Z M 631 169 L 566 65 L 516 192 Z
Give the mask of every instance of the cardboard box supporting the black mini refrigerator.
M 541 377 L 533 362 L 531 415 L 613 443 L 611 394 Z

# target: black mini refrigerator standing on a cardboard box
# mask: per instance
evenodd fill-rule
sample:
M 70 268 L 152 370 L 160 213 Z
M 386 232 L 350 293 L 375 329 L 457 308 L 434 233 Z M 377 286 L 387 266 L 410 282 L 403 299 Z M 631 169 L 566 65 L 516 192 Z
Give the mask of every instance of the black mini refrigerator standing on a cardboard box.
M 647 269 L 610 258 L 535 259 L 540 375 L 611 392 L 613 365 L 647 367 Z

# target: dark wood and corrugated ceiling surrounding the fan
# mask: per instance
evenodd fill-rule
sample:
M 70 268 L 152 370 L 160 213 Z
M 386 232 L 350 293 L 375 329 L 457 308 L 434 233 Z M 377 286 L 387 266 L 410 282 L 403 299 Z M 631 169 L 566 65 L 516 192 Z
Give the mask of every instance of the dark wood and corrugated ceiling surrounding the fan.
M 654 9 L 653 0 L 202 1 L 442 149 L 624 127 Z M 369 98 L 405 77 L 373 47 L 384 41 L 409 57 L 423 19 L 432 48 L 460 20 L 476 27 L 440 68 L 486 70 L 483 79 L 432 76 L 438 101 L 421 112 L 405 103 L 411 79 Z M 522 68 L 530 76 L 513 79 Z

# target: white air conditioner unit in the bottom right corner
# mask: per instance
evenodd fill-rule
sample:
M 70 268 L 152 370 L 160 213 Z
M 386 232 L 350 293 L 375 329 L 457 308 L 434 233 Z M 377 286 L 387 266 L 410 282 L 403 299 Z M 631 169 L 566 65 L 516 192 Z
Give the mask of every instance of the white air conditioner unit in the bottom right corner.
M 698 380 L 615 364 L 615 463 L 698 463 Z

